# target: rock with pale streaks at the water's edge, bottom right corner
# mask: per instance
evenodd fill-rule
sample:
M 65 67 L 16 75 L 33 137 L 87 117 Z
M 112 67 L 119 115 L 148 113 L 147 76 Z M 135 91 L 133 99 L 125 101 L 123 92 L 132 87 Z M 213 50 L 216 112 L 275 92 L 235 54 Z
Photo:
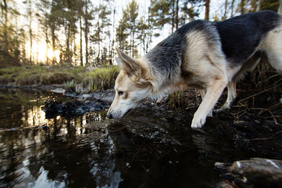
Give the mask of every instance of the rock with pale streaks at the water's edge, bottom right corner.
M 268 158 L 251 158 L 246 161 L 215 163 L 216 168 L 225 170 L 228 180 L 221 180 L 214 187 L 281 187 L 282 161 Z M 221 175 L 224 177 L 224 175 Z M 227 176 L 226 176 L 227 177 Z M 224 178 L 223 178 L 224 179 Z M 234 182 L 234 184 L 226 184 Z

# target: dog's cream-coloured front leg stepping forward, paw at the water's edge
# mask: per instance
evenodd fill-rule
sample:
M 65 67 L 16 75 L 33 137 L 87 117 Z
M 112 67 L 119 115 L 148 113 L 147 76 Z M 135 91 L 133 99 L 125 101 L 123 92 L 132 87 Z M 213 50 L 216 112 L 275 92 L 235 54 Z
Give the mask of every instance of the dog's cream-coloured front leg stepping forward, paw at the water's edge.
M 191 127 L 202 127 L 206 122 L 207 115 L 214 108 L 216 101 L 226 87 L 227 81 L 224 79 L 213 80 L 207 87 L 207 94 L 194 114 Z

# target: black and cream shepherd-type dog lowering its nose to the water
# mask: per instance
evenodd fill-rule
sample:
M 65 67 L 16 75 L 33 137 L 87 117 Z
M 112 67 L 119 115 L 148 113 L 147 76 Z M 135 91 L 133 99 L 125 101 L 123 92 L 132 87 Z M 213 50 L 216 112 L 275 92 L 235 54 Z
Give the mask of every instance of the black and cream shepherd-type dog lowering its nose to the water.
M 218 111 L 230 108 L 236 82 L 260 58 L 267 58 L 282 75 L 282 16 L 258 11 L 221 22 L 193 20 L 141 58 L 116 51 L 120 73 L 108 118 L 122 118 L 147 98 L 195 87 L 203 98 L 191 127 L 202 127 L 225 87 L 226 103 Z

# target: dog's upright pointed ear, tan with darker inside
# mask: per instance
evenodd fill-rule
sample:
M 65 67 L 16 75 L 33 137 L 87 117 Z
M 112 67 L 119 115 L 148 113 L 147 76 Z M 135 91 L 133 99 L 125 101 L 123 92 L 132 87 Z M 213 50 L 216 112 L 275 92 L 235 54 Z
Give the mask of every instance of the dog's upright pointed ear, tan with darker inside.
M 116 51 L 118 52 L 118 57 L 116 58 L 118 67 L 123 69 L 125 73 L 128 74 L 128 77 L 140 77 L 142 73 L 140 65 L 138 65 L 138 63 L 133 58 L 123 53 L 123 51 L 121 51 L 117 47 Z

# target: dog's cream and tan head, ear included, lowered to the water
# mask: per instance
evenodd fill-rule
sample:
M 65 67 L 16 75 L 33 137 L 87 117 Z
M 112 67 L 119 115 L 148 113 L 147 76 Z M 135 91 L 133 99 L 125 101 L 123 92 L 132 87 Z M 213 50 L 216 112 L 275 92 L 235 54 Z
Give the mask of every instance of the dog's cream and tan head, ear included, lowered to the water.
M 122 118 L 135 108 L 141 101 L 151 95 L 152 85 L 148 81 L 145 60 L 130 58 L 123 51 L 116 49 L 116 63 L 120 73 L 116 77 L 116 96 L 109 108 L 108 118 Z

